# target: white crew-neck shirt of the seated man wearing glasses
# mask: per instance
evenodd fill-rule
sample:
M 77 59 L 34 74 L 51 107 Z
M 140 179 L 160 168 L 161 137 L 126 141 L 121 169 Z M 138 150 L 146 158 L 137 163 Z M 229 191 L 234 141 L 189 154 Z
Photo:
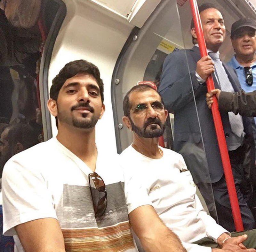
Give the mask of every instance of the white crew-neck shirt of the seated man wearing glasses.
M 125 183 L 135 184 L 139 179 L 157 214 L 179 236 L 187 251 L 211 252 L 211 248 L 192 242 L 204 237 L 217 241 L 228 231 L 204 211 L 183 157 L 170 149 L 161 150 L 163 157 L 152 159 L 132 145 L 126 148 L 120 154 Z

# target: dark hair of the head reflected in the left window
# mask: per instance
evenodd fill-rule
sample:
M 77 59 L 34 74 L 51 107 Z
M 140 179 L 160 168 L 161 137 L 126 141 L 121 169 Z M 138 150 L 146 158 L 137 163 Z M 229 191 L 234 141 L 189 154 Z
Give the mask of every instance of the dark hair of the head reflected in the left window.
M 36 130 L 28 124 L 14 123 L 8 125 L 6 128 L 9 128 L 7 137 L 8 144 L 12 151 L 16 143 L 21 143 L 24 149 L 28 149 L 39 143 Z

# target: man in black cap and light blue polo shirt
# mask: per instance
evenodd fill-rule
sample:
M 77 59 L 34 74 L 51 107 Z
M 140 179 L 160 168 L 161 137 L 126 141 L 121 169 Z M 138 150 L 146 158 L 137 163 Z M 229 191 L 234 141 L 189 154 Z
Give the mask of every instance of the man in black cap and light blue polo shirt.
M 256 21 L 241 18 L 231 27 L 231 42 L 235 55 L 228 65 L 236 70 L 241 87 L 245 92 L 256 90 Z M 254 81 L 253 81 L 254 79 Z M 252 119 L 253 120 L 253 119 Z M 256 118 L 254 118 L 256 123 Z M 256 127 L 253 127 L 256 139 Z

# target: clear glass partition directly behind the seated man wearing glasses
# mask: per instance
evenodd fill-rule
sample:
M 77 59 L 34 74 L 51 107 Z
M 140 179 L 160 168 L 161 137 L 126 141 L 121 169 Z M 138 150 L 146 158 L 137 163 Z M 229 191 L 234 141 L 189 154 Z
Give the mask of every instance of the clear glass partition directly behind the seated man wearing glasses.
M 186 11 L 190 16 L 188 6 Z M 190 17 L 186 20 L 189 20 L 189 26 Z M 130 40 L 128 39 L 127 48 L 119 56 L 113 76 L 113 81 L 118 79 L 119 82 L 112 84 L 115 124 L 119 125 L 116 129 L 117 146 L 120 146 L 118 151 L 121 152 L 132 143 L 131 132 L 121 125 L 121 104 L 125 94 L 140 80 L 155 82 L 165 108 L 170 113 L 164 133 L 165 145 L 182 154 L 197 187 L 204 196 L 210 214 L 218 221 L 195 94 L 189 75 L 187 55 L 183 50 L 186 48 L 183 39 L 185 30 L 184 23 L 180 22 L 176 1 L 161 1 L 144 26 L 140 30 L 135 30 Z M 179 59 L 175 59 L 177 53 Z M 172 55 L 174 61 L 169 65 L 166 62 L 173 60 Z M 181 65 L 180 59 L 183 59 Z M 179 70 L 182 71 L 177 75 Z M 169 90 L 167 93 L 166 89 Z

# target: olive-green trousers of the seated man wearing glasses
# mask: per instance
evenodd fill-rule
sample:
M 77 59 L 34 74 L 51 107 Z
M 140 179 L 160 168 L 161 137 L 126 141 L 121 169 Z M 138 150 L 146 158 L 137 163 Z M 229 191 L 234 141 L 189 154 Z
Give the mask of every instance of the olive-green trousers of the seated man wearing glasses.
M 256 229 L 248 230 L 244 232 L 234 232 L 234 233 L 231 233 L 231 236 L 236 237 L 243 234 L 248 235 L 248 238 L 243 242 L 244 246 L 246 248 L 256 248 Z M 210 248 L 219 248 L 219 245 L 209 237 L 205 237 L 193 243 L 201 246 L 205 246 L 205 247 L 210 247 Z

